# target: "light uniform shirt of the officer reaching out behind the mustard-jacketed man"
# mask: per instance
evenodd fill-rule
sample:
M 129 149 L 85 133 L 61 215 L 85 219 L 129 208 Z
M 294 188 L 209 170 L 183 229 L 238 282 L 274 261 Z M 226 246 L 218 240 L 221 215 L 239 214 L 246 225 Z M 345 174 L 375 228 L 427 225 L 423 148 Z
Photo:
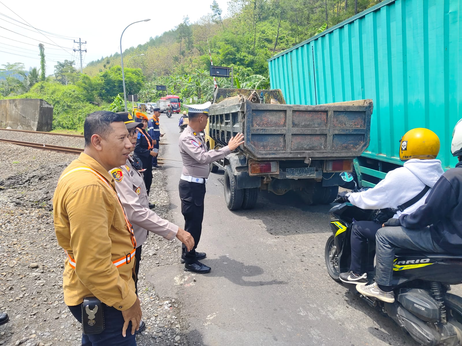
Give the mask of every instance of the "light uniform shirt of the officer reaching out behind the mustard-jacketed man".
M 146 241 L 146 230 L 169 240 L 176 237 L 178 226 L 160 218 L 149 209 L 143 176 L 132 166 L 131 159 L 127 160 L 126 165 L 114 168 L 109 173 L 116 180 L 116 191 L 128 221 L 133 225 L 137 247 Z

